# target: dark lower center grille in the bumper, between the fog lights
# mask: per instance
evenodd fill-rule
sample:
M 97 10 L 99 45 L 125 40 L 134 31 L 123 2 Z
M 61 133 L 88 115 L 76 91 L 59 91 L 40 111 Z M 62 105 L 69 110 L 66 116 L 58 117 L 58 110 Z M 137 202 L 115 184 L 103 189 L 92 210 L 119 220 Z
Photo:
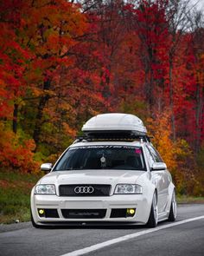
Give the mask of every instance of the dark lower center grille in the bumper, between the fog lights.
M 103 219 L 106 209 L 61 209 L 65 219 Z

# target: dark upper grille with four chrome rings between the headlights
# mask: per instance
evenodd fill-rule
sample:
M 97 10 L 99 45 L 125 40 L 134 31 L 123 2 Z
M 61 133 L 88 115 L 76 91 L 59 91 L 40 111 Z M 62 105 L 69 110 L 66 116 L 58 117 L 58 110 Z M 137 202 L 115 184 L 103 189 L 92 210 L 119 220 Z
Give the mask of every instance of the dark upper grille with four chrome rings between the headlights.
M 60 185 L 60 196 L 109 196 L 111 185 Z

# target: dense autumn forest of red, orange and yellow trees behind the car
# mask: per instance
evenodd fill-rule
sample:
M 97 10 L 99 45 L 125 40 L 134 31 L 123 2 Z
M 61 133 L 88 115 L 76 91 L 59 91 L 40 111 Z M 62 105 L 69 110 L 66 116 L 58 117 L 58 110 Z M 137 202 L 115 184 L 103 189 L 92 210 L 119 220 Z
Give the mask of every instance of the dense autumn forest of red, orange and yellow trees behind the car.
M 178 194 L 204 196 L 204 20 L 190 0 L 0 2 L 0 167 L 35 174 L 83 123 L 140 117 Z

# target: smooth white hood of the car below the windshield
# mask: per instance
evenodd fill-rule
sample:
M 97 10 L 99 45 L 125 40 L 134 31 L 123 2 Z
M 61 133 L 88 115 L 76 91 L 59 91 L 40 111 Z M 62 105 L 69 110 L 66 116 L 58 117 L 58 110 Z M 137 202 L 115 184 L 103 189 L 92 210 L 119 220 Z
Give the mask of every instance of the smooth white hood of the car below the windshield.
M 40 184 L 134 184 L 144 171 L 128 170 L 76 170 L 51 172 L 39 181 Z

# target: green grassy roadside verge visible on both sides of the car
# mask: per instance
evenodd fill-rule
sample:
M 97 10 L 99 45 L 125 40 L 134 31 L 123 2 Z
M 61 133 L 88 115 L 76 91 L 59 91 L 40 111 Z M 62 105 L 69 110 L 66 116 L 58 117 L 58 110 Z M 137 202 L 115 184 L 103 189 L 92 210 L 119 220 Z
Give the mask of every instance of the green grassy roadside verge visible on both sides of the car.
M 0 224 L 29 221 L 29 195 L 43 174 L 19 174 L 0 169 Z M 204 197 L 178 195 L 177 202 L 204 203 Z

